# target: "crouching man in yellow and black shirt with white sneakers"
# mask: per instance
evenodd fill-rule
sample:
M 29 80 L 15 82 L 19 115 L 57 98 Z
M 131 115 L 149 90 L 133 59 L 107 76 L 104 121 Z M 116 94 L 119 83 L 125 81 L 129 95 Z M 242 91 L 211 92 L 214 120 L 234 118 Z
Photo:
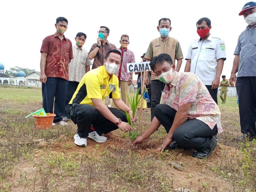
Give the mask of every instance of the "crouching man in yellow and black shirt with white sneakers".
M 118 78 L 114 75 L 122 60 L 118 50 L 108 51 L 104 65 L 84 75 L 66 106 L 68 116 L 77 124 L 77 134 L 74 136 L 76 145 L 86 147 L 87 137 L 103 143 L 107 138 L 102 133 L 118 128 L 124 132 L 132 130 L 124 111 L 129 113 L 133 122 L 137 120 L 137 114 L 133 118 L 132 110 L 120 99 Z M 118 109 L 104 105 L 103 100 L 109 95 Z

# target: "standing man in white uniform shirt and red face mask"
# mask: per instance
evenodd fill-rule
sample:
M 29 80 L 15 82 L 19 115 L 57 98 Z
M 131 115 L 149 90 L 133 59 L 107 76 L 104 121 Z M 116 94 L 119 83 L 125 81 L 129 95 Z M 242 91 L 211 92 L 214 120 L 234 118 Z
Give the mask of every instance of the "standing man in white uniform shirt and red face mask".
M 225 43 L 211 37 L 211 21 L 207 17 L 196 23 L 200 39 L 190 44 L 185 72 L 196 74 L 207 87 L 213 100 L 218 104 L 217 93 L 224 61 L 226 60 Z

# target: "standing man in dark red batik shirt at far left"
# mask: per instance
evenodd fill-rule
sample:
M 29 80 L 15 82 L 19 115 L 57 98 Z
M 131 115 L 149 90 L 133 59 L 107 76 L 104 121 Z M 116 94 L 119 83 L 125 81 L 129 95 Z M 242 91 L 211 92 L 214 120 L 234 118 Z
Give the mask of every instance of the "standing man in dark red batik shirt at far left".
M 64 36 L 68 28 L 65 17 L 56 19 L 56 33 L 44 38 L 41 46 L 40 82 L 42 83 L 43 108 L 53 113 L 53 123 L 67 125 L 62 120 L 65 114 L 65 101 L 68 91 L 68 64 L 73 59 L 72 43 Z

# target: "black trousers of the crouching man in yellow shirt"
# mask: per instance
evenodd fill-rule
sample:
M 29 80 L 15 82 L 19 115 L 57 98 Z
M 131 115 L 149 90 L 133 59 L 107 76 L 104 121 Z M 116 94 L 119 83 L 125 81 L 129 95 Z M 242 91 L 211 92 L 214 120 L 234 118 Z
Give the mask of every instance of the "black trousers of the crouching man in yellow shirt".
M 125 113 L 116 108 L 108 108 L 117 118 L 124 122 L 128 122 Z M 88 136 L 93 125 L 94 130 L 99 134 L 106 134 L 118 129 L 118 127 L 103 117 L 103 115 L 92 105 L 88 104 L 72 104 L 66 106 L 66 111 L 70 119 L 77 124 L 77 133 L 80 137 Z

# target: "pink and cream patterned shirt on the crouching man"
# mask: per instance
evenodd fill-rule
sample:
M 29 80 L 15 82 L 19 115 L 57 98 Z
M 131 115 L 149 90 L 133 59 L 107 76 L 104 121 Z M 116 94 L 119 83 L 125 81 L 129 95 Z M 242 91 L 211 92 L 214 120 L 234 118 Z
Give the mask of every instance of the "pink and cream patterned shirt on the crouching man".
M 175 72 L 170 84 L 166 84 L 161 103 L 174 110 L 191 102 L 188 119 L 199 119 L 211 129 L 217 124 L 218 133 L 223 131 L 220 123 L 220 110 L 199 77 L 192 73 Z

